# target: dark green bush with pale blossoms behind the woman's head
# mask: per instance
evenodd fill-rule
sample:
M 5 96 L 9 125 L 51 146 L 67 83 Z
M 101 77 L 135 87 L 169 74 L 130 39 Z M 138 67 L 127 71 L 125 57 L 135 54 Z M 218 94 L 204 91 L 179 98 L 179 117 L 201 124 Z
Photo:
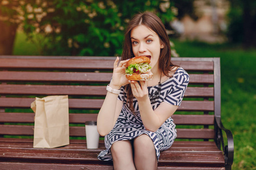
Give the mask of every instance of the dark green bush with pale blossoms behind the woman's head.
M 25 1 L 20 5 L 23 29 L 28 39 L 35 33 L 44 55 L 118 56 L 129 19 L 138 12 L 151 11 L 163 22 L 174 14 L 169 1 Z

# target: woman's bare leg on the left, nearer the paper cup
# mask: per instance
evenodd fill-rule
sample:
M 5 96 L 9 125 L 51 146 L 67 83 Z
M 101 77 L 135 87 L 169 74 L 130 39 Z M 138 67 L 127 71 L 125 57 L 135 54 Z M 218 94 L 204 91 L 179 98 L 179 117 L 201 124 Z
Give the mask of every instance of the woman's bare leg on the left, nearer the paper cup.
M 114 169 L 135 169 L 131 141 L 117 141 L 111 147 Z

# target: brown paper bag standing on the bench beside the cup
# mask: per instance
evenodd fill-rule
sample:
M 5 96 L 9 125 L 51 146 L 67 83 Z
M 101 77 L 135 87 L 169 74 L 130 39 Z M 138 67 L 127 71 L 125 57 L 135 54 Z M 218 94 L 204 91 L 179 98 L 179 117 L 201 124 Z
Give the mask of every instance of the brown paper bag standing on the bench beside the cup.
M 68 96 L 36 97 L 34 147 L 53 148 L 69 145 Z

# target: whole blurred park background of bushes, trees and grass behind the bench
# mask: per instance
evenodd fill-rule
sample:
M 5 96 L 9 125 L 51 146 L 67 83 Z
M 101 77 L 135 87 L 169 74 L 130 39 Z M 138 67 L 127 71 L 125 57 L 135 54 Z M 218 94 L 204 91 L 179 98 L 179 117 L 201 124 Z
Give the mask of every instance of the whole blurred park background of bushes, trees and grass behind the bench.
M 256 169 L 255 0 L 0 0 L 0 55 L 121 56 L 131 16 L 166 25 L 172 57 L 220 57 L 222 122 L 233 169 Z

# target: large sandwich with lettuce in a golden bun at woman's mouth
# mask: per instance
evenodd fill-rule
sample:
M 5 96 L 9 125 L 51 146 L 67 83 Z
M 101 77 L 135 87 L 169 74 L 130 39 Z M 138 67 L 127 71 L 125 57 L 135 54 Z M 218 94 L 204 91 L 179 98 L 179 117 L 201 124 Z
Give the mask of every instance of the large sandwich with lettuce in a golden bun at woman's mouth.
M 125 76 L 128 80 L 144 81 L 151 80 L 151 66 L 149 65 L 150 58 L 147 56 L 139 56 L 131 58 L 125 69 Z

